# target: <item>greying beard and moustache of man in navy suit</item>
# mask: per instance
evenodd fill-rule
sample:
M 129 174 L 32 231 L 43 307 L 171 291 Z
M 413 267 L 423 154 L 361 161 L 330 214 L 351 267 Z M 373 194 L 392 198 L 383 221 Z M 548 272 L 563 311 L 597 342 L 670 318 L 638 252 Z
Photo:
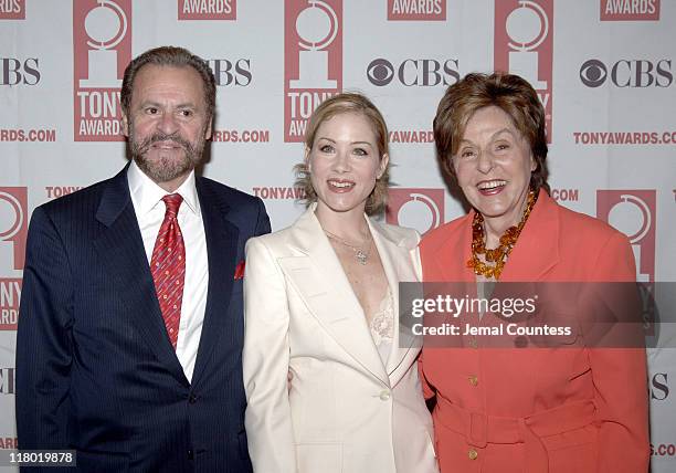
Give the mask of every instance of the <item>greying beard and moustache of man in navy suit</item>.
M 200 133 L 200 137 L 196 143 L 190 143 L 177 133 L 167 135 L 160 130 L 157 130 L 154 135 L 137 141 L 134 134 L 134 125 L 129 125 L 129 147 L 131 150 L 131 157 L 138 165 L 141 171 L 146 174 L 155 182 L 169 182 L 176 178 L 183 176 L 200 162 L 202 158 L 202 151 L 204 150 L 203 138 L 204 133 Z M 172 144 L 179 145 L 183 150 L 183 156 L 177 158 L 161 157 L 159 159 L 150 160 L 146 154 L 150 147 L 156 143 L 171 141 Z

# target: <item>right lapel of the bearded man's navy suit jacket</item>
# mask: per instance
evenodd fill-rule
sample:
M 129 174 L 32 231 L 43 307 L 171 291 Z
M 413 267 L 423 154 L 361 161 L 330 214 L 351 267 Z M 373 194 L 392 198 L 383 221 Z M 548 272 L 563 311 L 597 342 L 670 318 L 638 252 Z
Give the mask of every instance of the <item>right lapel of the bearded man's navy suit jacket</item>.
M 207 290 L 207 307 L 204 323 L 200 336 L 192 385 L 196 386 L 203 374 L 211 351 L 218 340 L 228 346 L 237 347 L 237 323 L 233 317 L 243 320 L 242 313 L 231 313 L 229 309 L 234 283 L 234 271 L 237 264 L 237 240 L 240 230 L 233 225 L 226 214 L 230 209 L 221 196 L 214 192 L 202 179 L 197 179 L 198 197 L 207 239 L 207 257 L 209 261 L 209 286 Z M 242 322 L 243 323 L 243 322 Z M 229 329 L 229 326 L 232 329 Z M 229 337 L 228 339 L 221 339 Z

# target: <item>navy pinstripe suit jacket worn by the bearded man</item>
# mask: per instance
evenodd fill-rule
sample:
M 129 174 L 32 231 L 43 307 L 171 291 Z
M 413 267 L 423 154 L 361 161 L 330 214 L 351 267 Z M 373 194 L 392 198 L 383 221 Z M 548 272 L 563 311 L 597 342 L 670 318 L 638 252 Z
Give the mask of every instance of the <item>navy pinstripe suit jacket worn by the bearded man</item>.
M 263 202 L 197 178 L 209 288 L 192 383 L 161 316 L 127 185 L 35 209 L 17 335 L 23 449 L 75 449 L 77 471 L 251 472 L 242 385 L 242 278 Z M 51 470 L 50 470 L 51 471 Z

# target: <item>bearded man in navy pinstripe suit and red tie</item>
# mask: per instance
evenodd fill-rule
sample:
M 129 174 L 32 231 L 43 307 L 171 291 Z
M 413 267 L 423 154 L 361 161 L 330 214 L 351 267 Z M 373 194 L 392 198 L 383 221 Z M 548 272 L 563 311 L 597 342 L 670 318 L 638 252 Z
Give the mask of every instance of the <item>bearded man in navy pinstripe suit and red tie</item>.
M 244 244 L 263 202 L 196 177 L 213 73 L 180 48 L 127 66 L 133 161 L 35 209 L 17 336 L 19 446 L 86 472 L 251 472 Z

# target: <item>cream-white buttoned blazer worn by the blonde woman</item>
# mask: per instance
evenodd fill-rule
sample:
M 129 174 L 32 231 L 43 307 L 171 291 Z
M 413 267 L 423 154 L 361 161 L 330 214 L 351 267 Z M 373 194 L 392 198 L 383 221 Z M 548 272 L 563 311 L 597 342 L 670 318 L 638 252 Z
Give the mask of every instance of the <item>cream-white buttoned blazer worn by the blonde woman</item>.
M 383 366 L 314 210 L 310 206 L 292 227 L 246 245 L 243 366 L 254 471 L 437 472 L 432 420 L 418 377 L 419 344 L 408 338 L 400 348 L 395 319 Z M 397 317 L 398 283 L 420 280 L 420 236 L 367 222 Z

